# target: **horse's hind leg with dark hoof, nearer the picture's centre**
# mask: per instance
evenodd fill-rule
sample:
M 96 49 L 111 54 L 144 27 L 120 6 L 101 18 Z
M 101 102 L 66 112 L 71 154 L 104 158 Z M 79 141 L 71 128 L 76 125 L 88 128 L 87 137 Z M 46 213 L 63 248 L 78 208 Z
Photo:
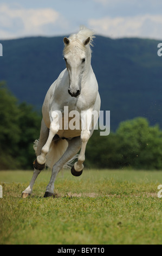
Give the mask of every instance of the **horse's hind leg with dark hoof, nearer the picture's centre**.
M 46 193 L 44 194 L 44 197 L 50 197 L 54 195 L 54 182 L 55 182 L 57 173 L 59 173 L 59 171 L 62 169 L 64 164 L 66 164 L 70 159 L 72 159 L 73 156 L 77 154 L 80 148 L 81 148 L 80 137 L 75 137 L 68 141 L 67 150 L 62 155 L 60 160 L 57 161 L 53 166 L 50 182 L 46 188 Z

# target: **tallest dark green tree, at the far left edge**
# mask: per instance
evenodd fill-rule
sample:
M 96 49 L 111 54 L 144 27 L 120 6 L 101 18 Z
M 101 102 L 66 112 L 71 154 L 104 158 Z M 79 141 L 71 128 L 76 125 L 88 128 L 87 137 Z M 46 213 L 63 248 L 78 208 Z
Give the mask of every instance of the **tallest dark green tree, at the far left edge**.
M 20 141 L 19 111 L 16 98 L 5 82 L 0 83 L 0 169 L 20 167 L 16 153 Z

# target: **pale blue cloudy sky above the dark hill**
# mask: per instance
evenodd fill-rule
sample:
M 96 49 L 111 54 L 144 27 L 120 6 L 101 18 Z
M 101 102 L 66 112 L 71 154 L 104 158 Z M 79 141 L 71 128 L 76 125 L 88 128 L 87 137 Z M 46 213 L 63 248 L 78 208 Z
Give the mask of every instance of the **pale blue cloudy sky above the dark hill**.
M 55 36 L 80 25 L 111 38 L 162 39 L 161 0 L 0 0 L 0 39 Z

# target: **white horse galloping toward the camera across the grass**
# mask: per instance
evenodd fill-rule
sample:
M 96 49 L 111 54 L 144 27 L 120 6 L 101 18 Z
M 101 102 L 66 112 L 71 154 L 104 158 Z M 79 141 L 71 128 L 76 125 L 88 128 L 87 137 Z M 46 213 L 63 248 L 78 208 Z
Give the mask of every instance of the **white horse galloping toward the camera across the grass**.
M 96 123 L 94 121 L 92 124 L 93 112 L 96 111 L 99 117 L 101 103 L 98 82 L 90 64 L 93 34 L 93 31 L 83 27 L 79 33 L 63 39 L 66 69 L 50 86 L 44 99 L 40 138 L 35 145 L 37 157 L 34 161 L 34 174 L 29 186 L 22 192 L 22 197 L 32 193 L 34 182 L 45 163 L 52 168 L 52 174 L 44 197 L 54 196 L 57 173 L 80 149 L 71 172 L 75 176 L 82 174 L 86 144 Z M 72 118 L 65 120 L 64 106 L 68 106 L 68 112 L 79 113 L 80 129 L 67 128 Z M 60 123 L 64 125 L 61 127 Z

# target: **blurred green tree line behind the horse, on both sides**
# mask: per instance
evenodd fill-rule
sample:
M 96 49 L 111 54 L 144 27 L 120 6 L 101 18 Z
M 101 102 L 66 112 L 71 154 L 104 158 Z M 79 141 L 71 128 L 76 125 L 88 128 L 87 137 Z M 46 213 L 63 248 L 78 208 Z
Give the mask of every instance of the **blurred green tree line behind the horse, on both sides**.
M 33 106 L 18 103 L 5 82 L 0 83 L 0 170 L 33 168 L 33 142 L 40 135 L 41 119 Z M 142 117 L 122 121 L 108 136 L 95 130 L 85 167 L 162 169 L 162 131 Z

